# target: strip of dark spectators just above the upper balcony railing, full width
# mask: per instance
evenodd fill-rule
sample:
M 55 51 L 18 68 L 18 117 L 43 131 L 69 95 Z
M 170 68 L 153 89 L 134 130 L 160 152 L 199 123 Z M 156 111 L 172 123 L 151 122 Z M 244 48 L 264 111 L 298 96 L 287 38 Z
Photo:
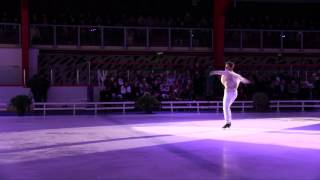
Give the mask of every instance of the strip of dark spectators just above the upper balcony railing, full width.
M 18 23 L 19 17 L 0 14 L 1 23 Z M 303 17 L 286 17 L 272 15 L 229 15 L 226 27 L 229 29 L 279 29 L 279 30 L 317 30 L 320 23 L 317 17 L 308 20 Z M 212 17 L 195 16 L 189 12 L 182 16 L 127 15 L 127 14 L 56 14 L 34 12 L 30 15 L 31 24 L 88 25 L 88 26 L 149 26 L 149 27 L 212 27 Z

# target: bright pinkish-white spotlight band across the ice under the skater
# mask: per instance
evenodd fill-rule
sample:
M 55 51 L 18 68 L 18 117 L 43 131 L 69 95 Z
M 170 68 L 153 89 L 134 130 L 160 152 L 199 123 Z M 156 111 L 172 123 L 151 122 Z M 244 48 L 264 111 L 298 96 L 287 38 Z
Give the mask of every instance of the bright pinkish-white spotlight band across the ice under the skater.
M 0 133 L 0 164 L 125 150 L 194 140 L 223 140 L 320 150 L 320 131 L 292 130 L 319 118 L 195 120 Z

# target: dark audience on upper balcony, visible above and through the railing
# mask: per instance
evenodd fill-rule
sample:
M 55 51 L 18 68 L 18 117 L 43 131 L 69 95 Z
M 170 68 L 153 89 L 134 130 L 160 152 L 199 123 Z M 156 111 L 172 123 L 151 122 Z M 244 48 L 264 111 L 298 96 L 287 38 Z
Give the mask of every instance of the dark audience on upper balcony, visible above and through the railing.
M 252 8 L 252 7 L 251 7 Z M 261 7 L 259 7 L 261 8 Z M 305 16 L 291 16 L 290 12 L 288 15 L 270 14 L 265 12 L 264 14 L 248 14 L 246 8 L 234 8 L 226 16 L 226 28 L 227 29 L 264 29 L 264 30 L 297 30 L 296 32 L 264 32 L 263 34 L 263 46 L 265 48 L 280 48 L 280 40 L 283 40 L 283 47 L 285 48 L 301 48 L 301 39 L 304 39 L 304 48 L 319 48 L 320 33 L 315 32 L 304 32 L 306 30 L 317 30 L 320 27 L 317 16 L 309 16 L 305 12 Z M 238 12 L 239 11 L 239 12 Z M 293 10 L 292 10 L 293 11 Z M 190 11 L 192 12 L 192 11 Z M 88 28 L 81 29 L 81 44 L 83 45 L 100 45 L 101 40 L 99 37 L 100 31 L 96 28 L 90 28 L 90 26 L 134 26 L 134 27 L 183 27 L 183 28 L 211 28 L 213 24 L 212 16 L 209 13 L 190 13 L 188 11 L 181 11 L 175 15 L 151 15 L 141 12 L 128 14 L 112 14 L 105 12 L 83 12 L 83 13 L 43 13 L 43 12 L 31 12 L 30 23 L 31 24 L 59 24 L 59 25 L 86 25 Z M 239 15 L 241 14 L 241 15 Z M 292 12 L 291 12 L 292 14 Z M 0 14 L 0 21 L 3 23 L 18 23 L 19 18 L 3 12 Z M 307 20 L 306 20 L 307 19 Z M 0 29 L 4 31 L 5 27 L 0 25 Z M 13 31 L 13 30 L 10 30 Z M 31 26 L 31 40 L 35 44 L 52 44 L 53 30 L 50 28 L 44 28 L 41 26 Z M 116 30 L 114 30 L 116 31 Z M 111 46 L 118 45 L 112 44 L 113 41 L 123 42 L 121 31 L 105 31 L 106 41 Z M 11 43 L 18 40 L 17 34 L 7 34 L 0 32 L 0 38 L 5 39 L 3 42 Z M 110 36 L 114 34 L 115 36 Z M 120 34 L 119 34 L 120 33 Z M 158 33 L 158 34 L 157 34 Z M 127 32 L 127 45 L 128 46 L 141 46 L 145 45 L 146 33 L 141 30 L 129 29 Z M 118 37 L 119 36 L 119 37 Z M 10 37 L 9 40 L 6 38 Z M 14 37 L 16 37 L 14 39 Z M 159 38 L 162 42 L 161 45 L 167 45 L 168 35 L 153 31 L 150 32 L 151 41 L 159 43 L 155 37 Z M 194 30 L 193 32 L 193 46 L 194 47 L 207 47 L 211 43 L 210 33 L 207 31 L 201 32 L 200 30 Z M 114 38 L 114 39 L 112 39 Z M 189 31 L 177 31 L 172 32 L 172 46 L 189 46 Z M 239 47 L 240 32 L 238 31 L 226 31 L 226 47 Z M 260 33 L 246 31 L 242 34 L 243 47 L 260 47 Z M 13 39 L 13 40 L 12 40 Z M 63 45 L 74 45 L 77 43 L 77 30 L 73 27 L 68 28 L 57 28 L 57 43 Z M 105 44 L 107 45 L 107 44 Z M 150 44 L 151 46 L 154 44 Z

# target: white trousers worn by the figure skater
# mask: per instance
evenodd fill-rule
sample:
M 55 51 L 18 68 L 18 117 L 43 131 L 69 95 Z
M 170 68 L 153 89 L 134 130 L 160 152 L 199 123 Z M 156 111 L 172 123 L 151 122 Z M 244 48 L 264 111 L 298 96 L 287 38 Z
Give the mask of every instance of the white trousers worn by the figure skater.
M 223 116 L 224 120 L 229 123 L 232 120 L 231 105 L 238 96 L 237 89 L 225 89 L 223 95 Z

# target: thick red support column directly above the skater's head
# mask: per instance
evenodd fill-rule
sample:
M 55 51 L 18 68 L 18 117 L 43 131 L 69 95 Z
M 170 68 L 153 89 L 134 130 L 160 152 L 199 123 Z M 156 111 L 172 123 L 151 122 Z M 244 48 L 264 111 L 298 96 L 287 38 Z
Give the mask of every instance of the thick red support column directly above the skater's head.
M 214 67 L 224 66 L 224 27 L 225 13 L 230 4 L 230 0 L 214 0 L 213 12 L 213 48 L 214 48 Z

